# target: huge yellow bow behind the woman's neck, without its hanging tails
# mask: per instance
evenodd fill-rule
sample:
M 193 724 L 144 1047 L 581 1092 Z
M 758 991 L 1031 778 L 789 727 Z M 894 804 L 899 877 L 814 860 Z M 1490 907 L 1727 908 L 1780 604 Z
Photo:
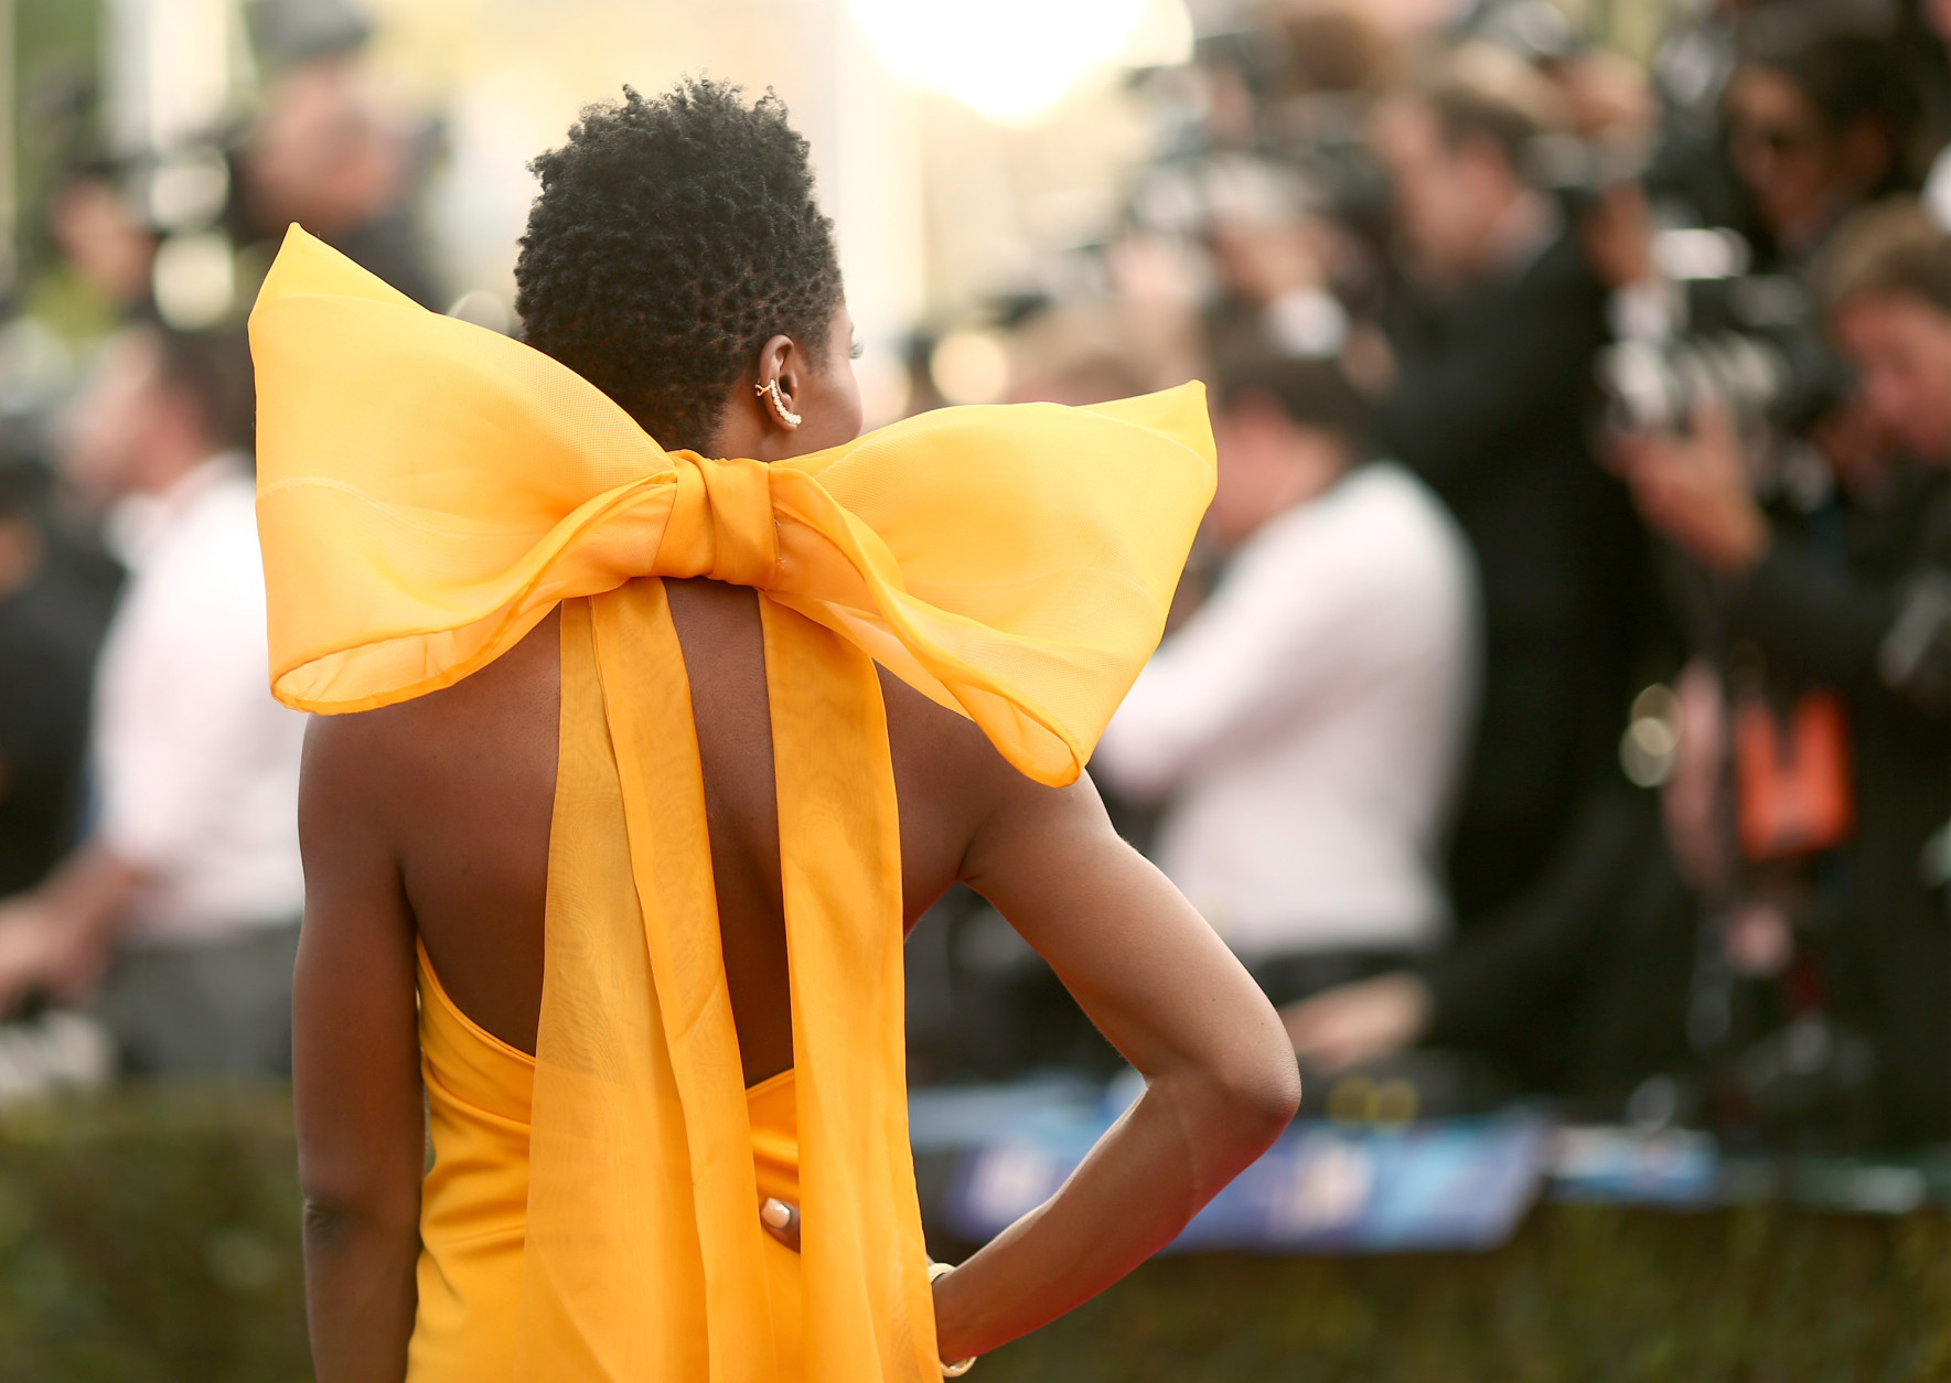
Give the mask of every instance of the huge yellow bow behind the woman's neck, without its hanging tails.
M 716 575 L 1063 784 L 1151 655 L 1214 488 L 1198 384 L 946 408 L 769 466 L 665 453 L 579 375 L 297 226 L 252 349 L 271 685 L 300 710 L 447 687 L 568 597 Z

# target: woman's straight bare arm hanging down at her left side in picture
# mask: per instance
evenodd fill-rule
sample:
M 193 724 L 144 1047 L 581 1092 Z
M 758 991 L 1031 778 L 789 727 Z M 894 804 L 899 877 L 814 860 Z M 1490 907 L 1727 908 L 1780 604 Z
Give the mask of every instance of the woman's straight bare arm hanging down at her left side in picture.
M 314 718 L 299 835 L 304 930 L 293 1003 L 304 1297 L 318 1383 L 400 1383 L 414 1332 L 425 1116 L 414 915 L 377 763 L 353 718 Z

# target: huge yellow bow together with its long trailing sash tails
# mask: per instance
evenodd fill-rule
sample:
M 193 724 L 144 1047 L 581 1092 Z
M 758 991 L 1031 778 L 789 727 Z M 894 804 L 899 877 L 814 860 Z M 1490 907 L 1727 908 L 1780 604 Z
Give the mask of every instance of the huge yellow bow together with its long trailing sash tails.
M 449 687 L 564 607 L 513 1377 L 776 1377 L 689 683 L 661 585 L 636 581 L 659 575 L 761 593 L 804 1377 L 938 1377 L 874 663 L 1024 774 L 1071 782 L 1212 497 L 1204 394 L 954 408 L 771 466 L 665 453 L 556 361 L 414 306 L 299 228 L 252 347 L 285 704 Z M 603 724 L 572 735 L 570 716 Z M 583 806 L 603 782 L 620 813 Z

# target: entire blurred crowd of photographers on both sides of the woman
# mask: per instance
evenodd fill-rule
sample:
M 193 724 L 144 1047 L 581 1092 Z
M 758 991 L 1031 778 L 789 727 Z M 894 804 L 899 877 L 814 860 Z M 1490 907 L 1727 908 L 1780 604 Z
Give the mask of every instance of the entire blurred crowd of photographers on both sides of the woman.
M 437 125 L 353 10 L 248 12 L 242 125 L 131 158 L 76 92 L 35 131 L 0 1096 L 289 1061 L 302 718 L 238 322 L 293 220 L 447 302 Z M 1672 0 L 1645 62 L 1545 0 L 1389 14 L 1198 6 L 1130 78 L 1116 222 L 917 332 L 911 408 L 977 337 L 1018 402 L 1208 380 L 1217 497 L 1093 776 L 1315 1114 L 1951 1139 L 1951 4 Z M 970 893 L 909 1030 L 917 1081 L 1116 1063 Z

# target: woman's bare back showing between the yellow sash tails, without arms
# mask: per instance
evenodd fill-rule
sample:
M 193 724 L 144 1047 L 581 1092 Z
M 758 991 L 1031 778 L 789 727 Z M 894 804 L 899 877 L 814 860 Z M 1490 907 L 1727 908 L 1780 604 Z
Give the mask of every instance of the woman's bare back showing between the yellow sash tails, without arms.
M 726 983 L 745 1083 L 792 1065 L 778 811 L 759 603 L 667 581 L 691 677 Z M 560 620 L 474 677 L 334 726 L 384 819 L 435 973 L 494 1036 L 535 1051 L 556 790 Z M 882 673 L 911 927 L 962 872 L 1015 772 L 970 722 Z

